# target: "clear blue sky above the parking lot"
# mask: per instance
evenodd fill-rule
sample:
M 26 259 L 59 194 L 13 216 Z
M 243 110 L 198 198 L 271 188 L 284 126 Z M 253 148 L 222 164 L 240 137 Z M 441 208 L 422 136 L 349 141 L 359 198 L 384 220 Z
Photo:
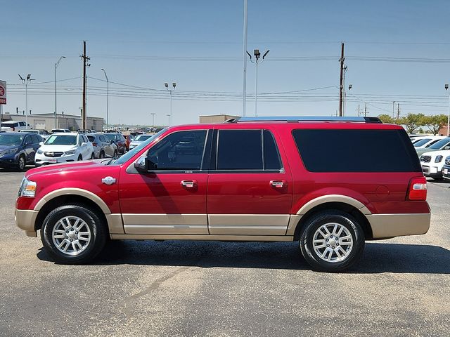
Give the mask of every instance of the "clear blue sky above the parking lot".
M 243 112 L 243 0 L 0 0 L 4 112 L 25 110 L 18 74 L 32 74 L 32 114 L 79 114 L 82 44 L 91 58 L 86 112 L 110 124 L 172 124 Z M 330 116 L 338 110 L 345 42 L 346 115 L 446 114 L 450 82 L 446 1 L 248 0 L 248 51 L 270 50 L 258 66 L 259 116 Z M 348 85 L 352 89 L 348 90 Z M 248 62 L 246 112 L 255 115 L 255 65 Z

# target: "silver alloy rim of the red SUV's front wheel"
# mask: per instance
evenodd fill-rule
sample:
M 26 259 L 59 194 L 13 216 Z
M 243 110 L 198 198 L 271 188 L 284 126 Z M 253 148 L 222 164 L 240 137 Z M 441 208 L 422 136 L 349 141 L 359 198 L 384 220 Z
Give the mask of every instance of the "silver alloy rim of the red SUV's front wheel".
M 77 256 L 91 242 L 91 230 L 82 218 L 65 216 L 56 222 L 51 239 L 56 249 L 70 256 Z

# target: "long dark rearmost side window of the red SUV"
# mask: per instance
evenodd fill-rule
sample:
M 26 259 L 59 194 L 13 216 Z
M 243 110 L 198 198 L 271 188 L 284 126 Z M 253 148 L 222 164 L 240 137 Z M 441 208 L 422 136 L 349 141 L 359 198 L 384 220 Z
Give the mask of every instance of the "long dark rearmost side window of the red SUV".
M 294 130 L 311 172 L 419 172 L 420 162 L 402 130 Z

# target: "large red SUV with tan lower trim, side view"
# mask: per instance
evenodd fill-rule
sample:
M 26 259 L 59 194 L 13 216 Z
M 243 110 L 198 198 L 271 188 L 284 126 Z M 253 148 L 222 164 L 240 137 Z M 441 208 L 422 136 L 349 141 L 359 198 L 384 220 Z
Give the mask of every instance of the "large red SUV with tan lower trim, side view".
M 299 241 L 338 271 L 365 240 L 425 234 L 427 184 L 401 126 L 365 117 L 242 117 L 174 126 L 120 159 L 27 171 L 15 219 L 59 263 L 107 239 Z

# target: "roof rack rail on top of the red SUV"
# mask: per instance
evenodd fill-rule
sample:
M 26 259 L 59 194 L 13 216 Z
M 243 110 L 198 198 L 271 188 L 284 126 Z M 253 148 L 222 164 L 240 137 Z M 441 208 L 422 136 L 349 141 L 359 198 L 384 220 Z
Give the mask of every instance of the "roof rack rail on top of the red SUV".
M 237 117 L 228 119 L 226 123 L 237 123 L 240 121 L 356 121 L 363 123 L 383 123 L 378 117 L 319 117 L 319 116 L 288 116 L 288 117 Z

